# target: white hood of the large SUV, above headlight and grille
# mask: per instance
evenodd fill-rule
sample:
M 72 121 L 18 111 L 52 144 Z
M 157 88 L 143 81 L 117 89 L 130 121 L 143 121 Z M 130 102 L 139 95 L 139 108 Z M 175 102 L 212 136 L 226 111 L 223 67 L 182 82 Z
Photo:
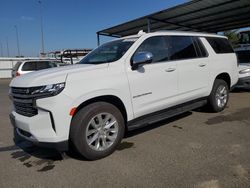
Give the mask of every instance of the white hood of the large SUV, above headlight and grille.
M 14 78 L 10 83 L 10 87 L 34 87 L 61 83 L 66 81 L 68 74 L 93 71 L 107 66 L 108 63 L 100 65 L 78 64 L 35 71 Z

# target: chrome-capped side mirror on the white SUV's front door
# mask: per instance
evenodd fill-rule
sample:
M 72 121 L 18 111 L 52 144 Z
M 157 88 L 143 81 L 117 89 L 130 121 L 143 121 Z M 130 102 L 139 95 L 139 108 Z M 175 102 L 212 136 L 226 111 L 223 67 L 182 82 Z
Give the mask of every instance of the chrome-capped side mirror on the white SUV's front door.
M 140 65 L 152 63 L 153 54 L 151 52 L 137 52 L 132 57 L 132 70 L 138 69 Z

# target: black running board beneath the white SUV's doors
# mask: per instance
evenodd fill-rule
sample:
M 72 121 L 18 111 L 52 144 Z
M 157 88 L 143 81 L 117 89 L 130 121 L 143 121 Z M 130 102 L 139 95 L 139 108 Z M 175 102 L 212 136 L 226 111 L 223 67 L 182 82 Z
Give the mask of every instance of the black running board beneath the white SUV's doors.
M 139 118 L 136 118 L 134 120 L 131 120 L 128 122 L 128 130 L 135 130 L 141 127 L 145 127 L 148 125 L 151 125 L 153 123 L 156 123 L 161 120 L 165 120 L 167 118 L 182 114 L 184 112 L 194 110 L 196 108 L 200 108 L 207 104 L 207 99 L 202 98 L 194 101 L 190 101 L 181 105 L 177 105 L 174 107 L 170 107 L 158 112 L 154 112 L 151 114 L 147 114 L 144 116 L 141 116 Z

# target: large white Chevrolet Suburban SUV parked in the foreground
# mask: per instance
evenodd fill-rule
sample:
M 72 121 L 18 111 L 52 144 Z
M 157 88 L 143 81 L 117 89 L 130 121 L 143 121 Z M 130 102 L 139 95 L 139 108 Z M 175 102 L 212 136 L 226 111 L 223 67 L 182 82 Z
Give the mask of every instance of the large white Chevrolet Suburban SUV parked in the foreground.
M 226 37 L 140 33 L 103 44 L 78 65 L 15 78 L 10 119 L 37 145 L 71 146 L 95 160 L 111 154 L 127 130 L 205 104 L 222 111 L 237 81 Z

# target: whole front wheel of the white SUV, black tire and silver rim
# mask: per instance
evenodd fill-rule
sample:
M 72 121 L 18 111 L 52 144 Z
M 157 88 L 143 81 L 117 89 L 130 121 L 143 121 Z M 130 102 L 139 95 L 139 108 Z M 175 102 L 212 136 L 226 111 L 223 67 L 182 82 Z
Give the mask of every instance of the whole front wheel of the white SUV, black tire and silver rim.
M 114 105 L 95 102 L 82 108 L 70 125 L 73 147 L 88 160 L 113 153 L 125 131 L 124 119 Z

